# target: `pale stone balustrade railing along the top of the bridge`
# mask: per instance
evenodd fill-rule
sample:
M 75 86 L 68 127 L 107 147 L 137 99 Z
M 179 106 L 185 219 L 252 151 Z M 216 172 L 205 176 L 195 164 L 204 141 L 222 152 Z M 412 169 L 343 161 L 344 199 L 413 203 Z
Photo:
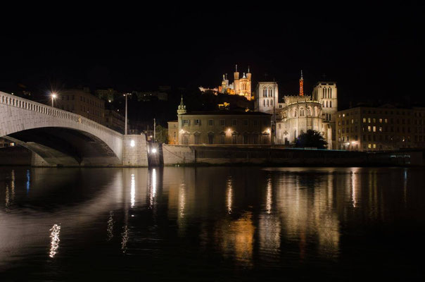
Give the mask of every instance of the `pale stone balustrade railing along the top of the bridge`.
M 25 109 L 28 111 L 34 111 L 34 112 L 37 112 L 40 114 L 46 114 L 49 116 L 55 116 L 57 118 L 64 118 L 64 119 L 67 119 L 68 121 L 75 121 L 76 123 L 88 125 L 91 128 L 96 128 L 97 130 L 101 130 L 106 133 L 122 137 L 121 133 L 118 133 L 115 130 L 107 128 L 106 126 L 101 125 L 99 123 L 96 123 L 95 121 L 91 121 L 91 119 L 85 118 L 84 116 L 73 114 L 73 113 L 70 113 L 69 111 L 64 111 L 58 108 L 54 108 L 52 106 L 47 106 L 45 104 L 33 102 L 25 98 L 16 97 L 14 95 L 1 92 L 1 91 L 0 91 L 0 104 L 6 104 L 8 106 L 14 106 L 15 108 Z

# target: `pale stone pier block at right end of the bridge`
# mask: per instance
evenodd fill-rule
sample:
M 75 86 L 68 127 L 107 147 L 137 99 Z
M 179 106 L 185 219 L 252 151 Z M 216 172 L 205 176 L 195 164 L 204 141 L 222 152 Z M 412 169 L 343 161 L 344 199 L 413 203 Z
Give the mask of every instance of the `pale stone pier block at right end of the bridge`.
M 124 135 L 122 140 L 122 166 L 148 166 L 146 136 Z

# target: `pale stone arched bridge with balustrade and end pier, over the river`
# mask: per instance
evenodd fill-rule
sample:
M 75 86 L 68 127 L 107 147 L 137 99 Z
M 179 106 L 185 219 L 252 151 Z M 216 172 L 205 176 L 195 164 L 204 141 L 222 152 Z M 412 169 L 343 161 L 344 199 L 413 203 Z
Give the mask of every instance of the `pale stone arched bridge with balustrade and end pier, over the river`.
M 0 137 L 41 166 L 148 166 L 145 135 L 122 135 L 89 118 L 0 92 Z

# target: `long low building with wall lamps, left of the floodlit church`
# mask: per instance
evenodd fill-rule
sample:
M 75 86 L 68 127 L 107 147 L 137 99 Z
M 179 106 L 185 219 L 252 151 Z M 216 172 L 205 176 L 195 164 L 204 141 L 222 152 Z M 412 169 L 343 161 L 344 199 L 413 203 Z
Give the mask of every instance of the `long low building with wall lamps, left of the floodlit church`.
M 183 100 L 177 110 L 179 145 L 270 145 L 271 117 L 260 112 L 186 112 Z M 175 140 L 176 121 L 169 122 L 168 140 Z

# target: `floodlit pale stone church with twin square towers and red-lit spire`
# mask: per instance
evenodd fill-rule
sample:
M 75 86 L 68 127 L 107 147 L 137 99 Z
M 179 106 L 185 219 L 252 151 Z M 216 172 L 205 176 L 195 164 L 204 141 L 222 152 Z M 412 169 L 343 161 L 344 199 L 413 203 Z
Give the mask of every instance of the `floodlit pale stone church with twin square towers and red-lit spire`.
M 317 130 L 336 148 L 335 114 L 338 110 L 336 82 L 317 82 L 312 96 L 304 95 L 303 72 L 297 96 L 284 96 L 279 102 L 277 82 L 258 82 L 255 111 L 272 114 L 274 144 L 288 145 L 307 130 Z

